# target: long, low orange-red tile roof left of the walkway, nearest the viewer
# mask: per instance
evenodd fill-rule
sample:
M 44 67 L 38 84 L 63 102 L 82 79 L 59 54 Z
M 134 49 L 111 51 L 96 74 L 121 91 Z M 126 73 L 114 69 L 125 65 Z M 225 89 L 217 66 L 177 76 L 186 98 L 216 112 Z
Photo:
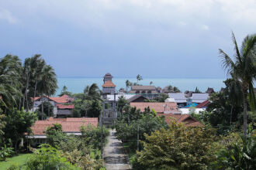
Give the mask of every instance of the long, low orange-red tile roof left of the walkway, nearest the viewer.
M 67 118 L 54 118 L 50 117 L 46 121 L 36 121 L 36 123 L 31 127 L 34 135 L 45 135 L 43 131 L 47 130 L 47 127 L 53 126 L 53 124 L 61 124 L 62 130 L 64 132 L 81 132 L 81 126 L 87 126 L 88 124 L 92 124 L 94 127 L 98 126 L 98 118 L 97 117 L 67 117 Z

